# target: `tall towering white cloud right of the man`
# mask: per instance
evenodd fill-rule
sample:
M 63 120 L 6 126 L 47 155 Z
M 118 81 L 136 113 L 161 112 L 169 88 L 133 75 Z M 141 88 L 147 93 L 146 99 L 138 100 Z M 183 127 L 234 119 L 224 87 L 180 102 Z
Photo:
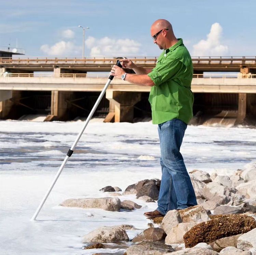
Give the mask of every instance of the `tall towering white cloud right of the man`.
M 221 44 L 222 27 L 219 23 L 211 26 L 206 40 L 193 45 L 193 56 L 221 56 L 228 53 L 228 46 Z

